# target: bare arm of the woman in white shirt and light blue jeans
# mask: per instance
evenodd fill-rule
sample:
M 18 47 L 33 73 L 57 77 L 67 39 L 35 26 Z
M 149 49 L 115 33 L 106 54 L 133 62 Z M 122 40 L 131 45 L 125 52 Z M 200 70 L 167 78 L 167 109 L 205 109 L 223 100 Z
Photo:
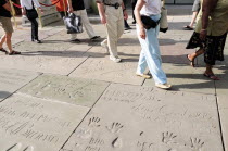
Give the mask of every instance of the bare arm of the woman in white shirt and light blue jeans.
M 138 0 L 136 3 L 136 8 L 134 10 L 134 14 L 136 16 L 136 22 L 139 26 L 139 35 L 142 39 L 145 39 L 145 30 L 141 21 L 141 15 L 140 15 L 140 11 L 142 9 L 142 7 L 145 4 L 144 0 Z

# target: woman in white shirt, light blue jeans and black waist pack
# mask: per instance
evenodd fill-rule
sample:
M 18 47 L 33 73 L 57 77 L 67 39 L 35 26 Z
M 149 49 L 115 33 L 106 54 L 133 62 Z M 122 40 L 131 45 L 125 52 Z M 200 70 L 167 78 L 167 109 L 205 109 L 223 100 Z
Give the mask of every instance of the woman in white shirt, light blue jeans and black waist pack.
M 149 75 L 143 74 L 148 66 L 154 78 L 155 86 L 162 89 L 169 89 L 172 86 L 167 84 L 166 75 L 162 70 L 162 59 L 157 39 L 160 25 L 155 28 L 144 29 L 141 21 L 141 15 L 145 15 L 157 22 L 161 18 L 161 0 L 138 0 L 136 4 L 135 16 L 137 21 L 137 34 L 142 49 L 136 74 L 149 78 Z

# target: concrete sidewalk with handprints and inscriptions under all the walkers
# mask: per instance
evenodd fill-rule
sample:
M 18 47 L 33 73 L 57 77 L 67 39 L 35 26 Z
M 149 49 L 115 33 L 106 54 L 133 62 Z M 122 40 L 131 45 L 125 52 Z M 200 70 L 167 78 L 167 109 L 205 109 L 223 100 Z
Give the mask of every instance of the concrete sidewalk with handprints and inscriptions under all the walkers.
M 22 55 L 0 52 L 0 151 L 228 151 L 228 42 L 214 67 L 221 80 L 210 80 L 203 56 L 194 68 L 186 58 L 195 51 L 185 49 L 192 32 L 182 30 L 191 7 L 167 8 L 160 45 L 169 91 L 135 75 L 140 45 L 131 16 L 134 29 L 119 40 L 122 63 L 86 32 L 71 43 L 62 22 L 39 30 L 41 45 L 30 41 L 29 27 L 15 29 Z

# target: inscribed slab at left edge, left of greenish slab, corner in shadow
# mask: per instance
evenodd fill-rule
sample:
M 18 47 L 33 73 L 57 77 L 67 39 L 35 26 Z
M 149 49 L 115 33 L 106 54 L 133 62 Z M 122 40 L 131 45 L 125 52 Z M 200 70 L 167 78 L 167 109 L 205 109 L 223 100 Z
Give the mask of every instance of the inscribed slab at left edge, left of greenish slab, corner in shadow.
M 36 78 L 39 73 L 0 68 L 0 101 Z

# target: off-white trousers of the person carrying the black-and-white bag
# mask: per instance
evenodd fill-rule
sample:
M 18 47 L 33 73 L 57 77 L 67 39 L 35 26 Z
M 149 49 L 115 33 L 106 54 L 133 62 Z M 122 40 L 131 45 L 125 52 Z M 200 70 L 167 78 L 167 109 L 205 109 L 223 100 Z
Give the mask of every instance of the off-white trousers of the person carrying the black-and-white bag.
M 92 38 L 96 36 L 94 30 L 89 22 L 86 9 L 85 10 L 79 10 L 79 11 L 74 11 L 74 14 L 79 15 L 81 17 L 83 26 L 86 28 L 86 32 L 89 36 L 89 38 Z M 71 34 L 72 35 L 72 40 L 77 38 L 77 34 Z

